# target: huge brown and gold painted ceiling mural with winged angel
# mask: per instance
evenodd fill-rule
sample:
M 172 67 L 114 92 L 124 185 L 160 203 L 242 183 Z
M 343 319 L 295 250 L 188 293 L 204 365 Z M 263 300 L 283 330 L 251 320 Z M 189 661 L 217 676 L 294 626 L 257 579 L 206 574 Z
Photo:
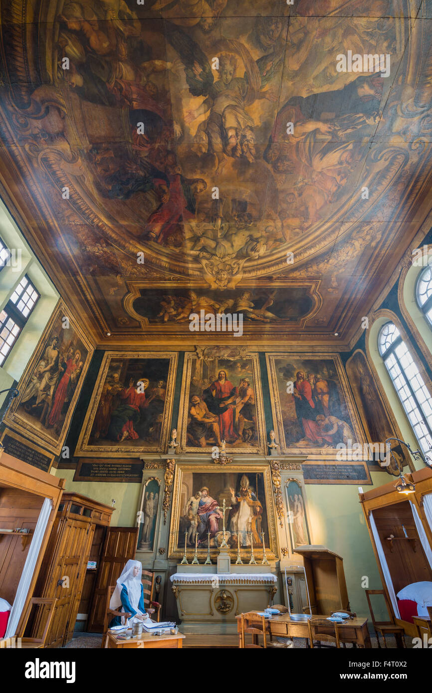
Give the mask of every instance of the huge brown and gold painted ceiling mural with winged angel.
M 186 335 L 200 308 L 242 312 L 246 335 L 358 327 L 420 225 L 428 17 L 421 0 L 5 3 L 1 178 L 98 339 Z

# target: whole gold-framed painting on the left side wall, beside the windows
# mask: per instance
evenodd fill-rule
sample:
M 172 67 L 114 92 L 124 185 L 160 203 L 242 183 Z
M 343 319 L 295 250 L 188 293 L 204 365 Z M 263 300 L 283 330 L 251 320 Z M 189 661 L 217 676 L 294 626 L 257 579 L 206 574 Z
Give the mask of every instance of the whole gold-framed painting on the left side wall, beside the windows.
M 59 301 L 4 422 L 59 455 L 92 353 L 74 315 Z

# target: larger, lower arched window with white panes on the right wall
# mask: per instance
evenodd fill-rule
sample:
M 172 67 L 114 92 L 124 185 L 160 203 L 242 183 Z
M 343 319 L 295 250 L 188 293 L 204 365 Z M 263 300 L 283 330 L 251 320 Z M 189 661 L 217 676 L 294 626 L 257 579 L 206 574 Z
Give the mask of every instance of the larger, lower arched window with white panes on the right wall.
M 408 420 L 427 453 L 432 448 L 432 397 L 397 326 L 387 322 L 379 331 L 378 349 Z

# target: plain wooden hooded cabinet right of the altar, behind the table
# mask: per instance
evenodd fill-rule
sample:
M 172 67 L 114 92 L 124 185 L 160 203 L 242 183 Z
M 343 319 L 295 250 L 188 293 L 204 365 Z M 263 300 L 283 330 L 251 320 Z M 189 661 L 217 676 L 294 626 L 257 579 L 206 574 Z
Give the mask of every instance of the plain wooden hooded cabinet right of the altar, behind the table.
M 343 559 L 325 546 L 309 545 L 295 549 L 304 559 L 312 613 L 331 613 L 348 609 L 349 599 Z M 303 608 L 308 611 L 307 608 Z

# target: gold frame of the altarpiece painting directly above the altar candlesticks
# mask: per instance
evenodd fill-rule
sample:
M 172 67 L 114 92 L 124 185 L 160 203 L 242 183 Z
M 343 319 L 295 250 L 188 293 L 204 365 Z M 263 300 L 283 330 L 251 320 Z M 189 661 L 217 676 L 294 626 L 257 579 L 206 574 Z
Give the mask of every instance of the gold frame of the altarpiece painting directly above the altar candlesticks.
M 169 533 L 169 559 L 181 559 L 184 555 L 184 541 L 182 543 L 180 538 L 180 518 L 183 516 L 184 508 L 184 495 L 186 493 L 196 492 L 192 484 L 194 482 L 193 475 L 196 475 L 199 480 L 199 484 L 205 483 L 209 486 L 209 493 L 212 498 L 218 501 L 219 505 L 222 505 L 223 499 L 225 498 L 225 504 L 227 507 L 230 506 L 229 496 L 230 493 L 226 489 L 229 489 L 230 484 L 237 492 L 238 483 L 235 483 L 235 477 L 237 480 L 239 477 L 243 478 L 243 475 L 252 480 L 252 488 L 257 491 L 256 498 L 261 502 L 261 506 L 265 509 L 265 523 L 266 532 L 264 534 L 264 543 L 266 546 L 266 556 L 269 560 L 277 560 L 279 557 L 279 548 L 277 540 L 277 523 L 275 514 L 275 502 L 273 499 L 273 486 L 271 479 L 270 463 L 259 463 L 252 460 L 245 460 L 241 464 L 230 464 L 224 468 L 215 466 L 214 464 L 200 464 L 200 462 L 177 462 L 175 464 L 175 477 L 173 484 L 173 502 L 171 506 L 171 522 L 170 522 L 170 533 Z M 258 477 L 259 475 L 259 477 Z M 188 489 L 187 477 L 189 477 Z M 214 478 L 212 478 L 214 477 Z M 214 491 L 214 480 L 219 478 L 221 484 L 223 484 L 223 491 Z M 259 490 L 256 486 L 259 483 Z M 187 500 L 187 499 L 186 499 Z M 218 529 L 221 532 L 223 528 L 222 518 L 218 522 Z M 225 529 L 227 530 L 227 535 L 230 533 L 230 515 L 229 511 L 225 514 Z M 222 532 L 221 532 L 222 534 Z M 183 535 L 184 538 L 184 535 Z M 230 537 L 227 536 L 227 542 L 230 542 Z M 234 541 L 234 545 L 227 549 L 232 562 L 235 561 L 237 556 L 237 544 Z M 216 558 L 218 556 L 218 547 L 210 547 L 210 556 L 214 563 L 216 563 Z M 191 545 L 187 546 L 187 557 L 189 563 L 192 560 L 194 554 L 194 547 Z M 205 557 L 207 556 L 207 545 L 202 548 L 198 547 L 197 551 L 198 560 L 200 563 L 204 563 Z M 257 563 L 261 563 L 263 559 L 263 548 L 261 544 L 255 545 L 254 543 L 254 555 Z M 250 547 L 241 547 L 240 556 L 243 563 L 248 563 L 251 556 Z

